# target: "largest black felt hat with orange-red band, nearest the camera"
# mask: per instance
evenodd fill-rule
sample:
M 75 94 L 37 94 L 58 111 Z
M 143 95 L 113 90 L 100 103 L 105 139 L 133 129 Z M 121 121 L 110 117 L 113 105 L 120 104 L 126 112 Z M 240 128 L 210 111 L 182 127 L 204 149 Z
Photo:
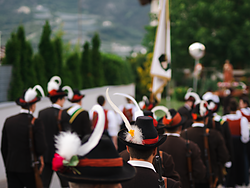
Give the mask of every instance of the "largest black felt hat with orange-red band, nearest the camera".
M 89 138 L 85 136 L 84 144 Z M 119 183 L 132 179 L 135 168 L 125 162 L 118 154 L 111 139 L 102 135 L 98 145 L 85 156 L 78 156 L 79 163 L 73 170 L 61 171 L 59 174 L 74 183 Z M 80 174 L 79 174 L 80 173 Z

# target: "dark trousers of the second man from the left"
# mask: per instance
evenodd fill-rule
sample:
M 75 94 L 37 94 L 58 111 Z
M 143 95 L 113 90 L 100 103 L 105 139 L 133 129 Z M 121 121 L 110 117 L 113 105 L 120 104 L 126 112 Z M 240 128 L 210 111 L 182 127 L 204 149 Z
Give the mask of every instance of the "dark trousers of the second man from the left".
M 42 172 L 42 175 L 41 175 L 44 188 L 49 188 L 53 173 L 54 173 L 54 171 L 52 170 L 52 164 L 45 163 L 44 164 L 44 169 L 43 169 L 43 172 Z M 68 181 L 63 179 L 58 173 L 56 173 L 56 174 L 57 174 L 57 176 L 59 178 L 61 187 L 62 188 L 69 187 Z

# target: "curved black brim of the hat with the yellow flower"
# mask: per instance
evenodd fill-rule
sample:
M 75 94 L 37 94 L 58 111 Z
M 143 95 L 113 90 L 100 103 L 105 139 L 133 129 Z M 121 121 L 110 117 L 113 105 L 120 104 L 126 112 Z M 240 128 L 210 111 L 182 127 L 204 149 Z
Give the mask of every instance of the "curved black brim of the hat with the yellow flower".
M 123 144 L 132 148 L 139 149 L 139 150 L 148 150 L 148 149 L 156 148 L 159 145 L 163 144 L 163 142 L 165 142 L 165 140 L 167 139 L 167 135 L 159 135 L 159 140 L 155 144 L 147 144 L 147 145 L 135 144 L 135 143 L 126 141 L 125 139 L 126 132 L 127 132 L 126 128 L 119 131 L 118 138 L 121 140 Z

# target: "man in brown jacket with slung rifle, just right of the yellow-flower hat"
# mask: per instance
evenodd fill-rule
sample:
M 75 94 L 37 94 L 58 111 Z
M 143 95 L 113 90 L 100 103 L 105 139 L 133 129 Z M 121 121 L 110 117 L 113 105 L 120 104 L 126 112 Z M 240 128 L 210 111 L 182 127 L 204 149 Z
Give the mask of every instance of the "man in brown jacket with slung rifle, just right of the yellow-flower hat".
M 201 160 L 198 145 L 180 137 L 185 118 L 181 117 L 176 110 L 170 109 L 169 114 L 160 118 L 158 122 L 164 130 L 163 135 L 168 136 L 159 149 L 173 157 L 175 169 L 180 175 L 181 187 L 192 187 L 194 179 L 199 180 L 205 177 L 206 167 Z

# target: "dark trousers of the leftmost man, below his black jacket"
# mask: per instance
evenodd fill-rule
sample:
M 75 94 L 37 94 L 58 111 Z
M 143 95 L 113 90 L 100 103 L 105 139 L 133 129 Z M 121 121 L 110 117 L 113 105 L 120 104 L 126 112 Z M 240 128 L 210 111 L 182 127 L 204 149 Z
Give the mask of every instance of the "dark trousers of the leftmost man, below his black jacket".
M 8 188 L 34 188 L 36 187 L 33 172 L 6 172 Z

